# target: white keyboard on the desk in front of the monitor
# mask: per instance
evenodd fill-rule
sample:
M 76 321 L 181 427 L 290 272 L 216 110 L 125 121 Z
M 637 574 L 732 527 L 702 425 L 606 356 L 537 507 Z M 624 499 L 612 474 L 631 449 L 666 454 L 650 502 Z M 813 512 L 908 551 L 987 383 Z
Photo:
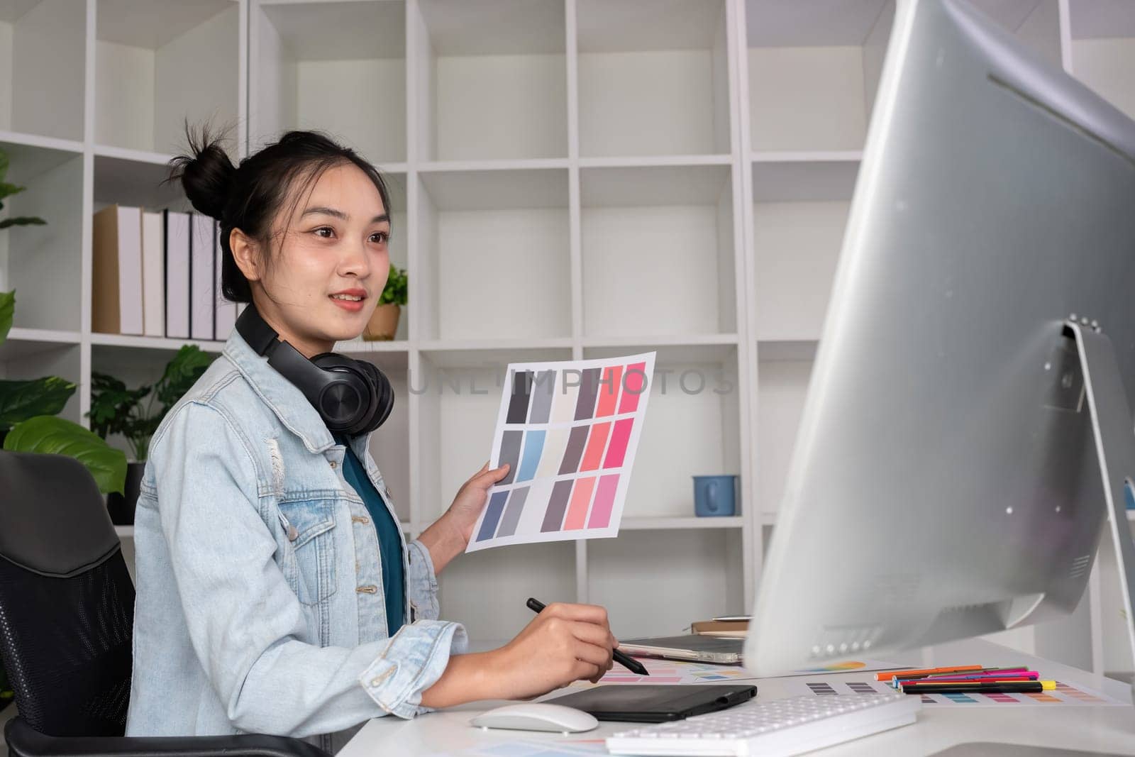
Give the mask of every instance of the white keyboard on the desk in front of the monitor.
M 787 756 L 909 725 L 919 697 L 875 693 L 749 703 L 607 738 L 612 755 Z

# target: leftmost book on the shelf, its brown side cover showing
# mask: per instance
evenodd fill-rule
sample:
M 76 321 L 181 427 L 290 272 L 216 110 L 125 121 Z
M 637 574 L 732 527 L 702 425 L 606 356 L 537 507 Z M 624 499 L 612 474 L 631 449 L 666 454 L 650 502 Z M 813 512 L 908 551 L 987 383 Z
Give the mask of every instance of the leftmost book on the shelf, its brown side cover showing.
M 142 334 L 142 209 L 107 205 L 92 224 L 91 330 Z

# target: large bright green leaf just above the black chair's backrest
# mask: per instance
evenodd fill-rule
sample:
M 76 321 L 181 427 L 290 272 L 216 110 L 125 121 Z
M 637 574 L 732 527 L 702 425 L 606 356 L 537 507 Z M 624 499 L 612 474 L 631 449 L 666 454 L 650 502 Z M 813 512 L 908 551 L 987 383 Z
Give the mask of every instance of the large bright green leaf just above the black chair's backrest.
M 62 418 L 36 415 L 18 423 L 5 438 L 3 448 L 74 457 L 91 471 L 103 494 L 121 493 L 126 483 L 126 453 Z

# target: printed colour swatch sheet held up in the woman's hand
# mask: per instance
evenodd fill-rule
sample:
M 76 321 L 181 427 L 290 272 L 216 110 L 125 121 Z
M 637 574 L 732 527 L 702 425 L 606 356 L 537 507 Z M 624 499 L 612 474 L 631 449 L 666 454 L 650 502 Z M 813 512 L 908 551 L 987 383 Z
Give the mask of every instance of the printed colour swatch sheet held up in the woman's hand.
M 508 474 L 466 552 L 619 535 L 654 358 L 510 363 L 491 456 Z

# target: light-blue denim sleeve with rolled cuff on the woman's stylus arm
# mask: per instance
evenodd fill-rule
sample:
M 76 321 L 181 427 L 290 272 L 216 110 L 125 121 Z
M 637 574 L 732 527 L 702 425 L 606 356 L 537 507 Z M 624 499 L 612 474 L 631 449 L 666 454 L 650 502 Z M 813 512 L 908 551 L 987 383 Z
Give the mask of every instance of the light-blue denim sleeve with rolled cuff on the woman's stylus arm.
M 430 619 L 353 648 L 301 641 L 303 607 L 259 510 L 275 505 L 260 496 L 237 427 L 212 405 L 186 403 L 154 439 L 150 459 L 193 650 L 237 729 L 302 738 L 419 712 L 421 692 L 466 644 L 460 624 L 435 620 L 437 583 L 420 545 L 411 586 L 429 598 L 422 606 Z

